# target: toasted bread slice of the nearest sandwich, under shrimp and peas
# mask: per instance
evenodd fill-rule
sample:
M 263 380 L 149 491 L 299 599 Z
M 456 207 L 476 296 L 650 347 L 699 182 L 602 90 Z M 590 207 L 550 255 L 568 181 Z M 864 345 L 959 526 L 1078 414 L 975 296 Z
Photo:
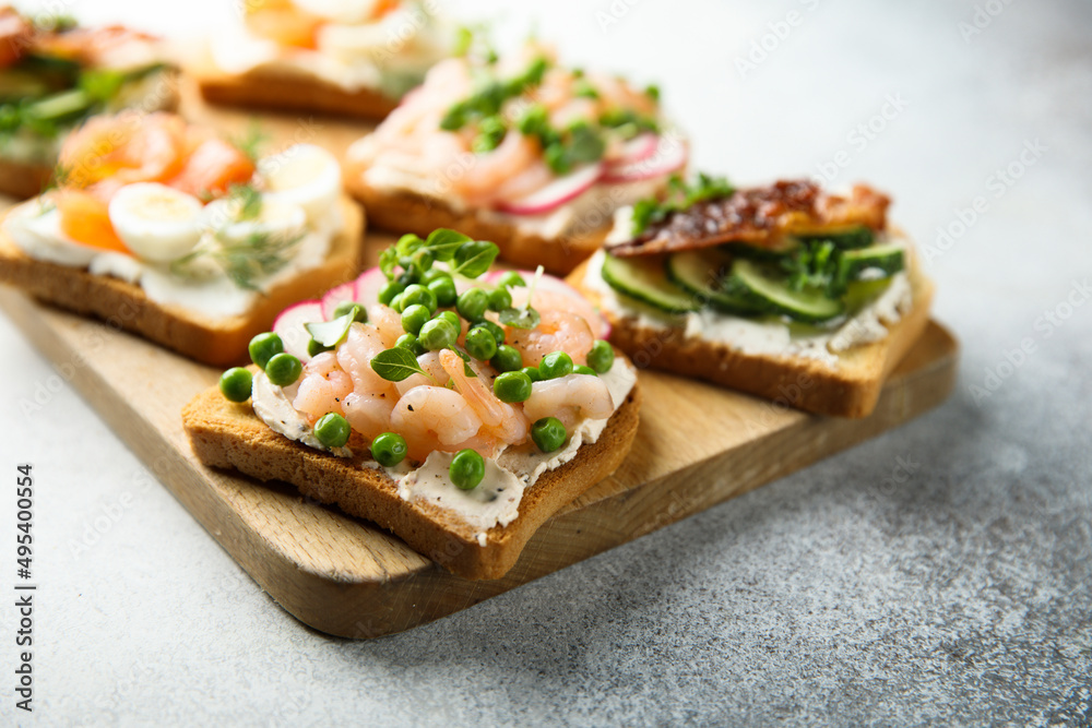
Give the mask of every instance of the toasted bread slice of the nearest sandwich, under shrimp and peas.
M 637 434 L 640 390 L 634 384 L 600 438 L 577 456 L 547 470 L 523 493 L 519 516 L 486 532 L 484 545 L 474 528 L 430 503 L 404 501 L 383 470 L 361 467 L 367 441 L 354 432 L 348 446 L 360 453 L 341 458 L 274 432 L 249 403 L 233 404 L 213 387 L 182 410 L 197 456 L 212 467 L 235 468 L 259 480 L 283 480 L 300 493 L 335 504 L 345 513 L 394 532 L 413 549 L 460 576 L 500 578 L 517 562 L 538 527 L 561 506 L 608 477 L 629 453 Z

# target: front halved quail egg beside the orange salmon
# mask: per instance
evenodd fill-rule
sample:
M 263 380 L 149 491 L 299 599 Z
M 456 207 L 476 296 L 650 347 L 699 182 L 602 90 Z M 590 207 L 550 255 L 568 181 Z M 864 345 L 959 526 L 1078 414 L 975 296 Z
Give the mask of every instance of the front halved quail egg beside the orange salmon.
M 201 201 L 158 182 L 122 187 L 110 200 L 109 216 L 126 247 L 147 261 L 178 260 L 201 239 Z

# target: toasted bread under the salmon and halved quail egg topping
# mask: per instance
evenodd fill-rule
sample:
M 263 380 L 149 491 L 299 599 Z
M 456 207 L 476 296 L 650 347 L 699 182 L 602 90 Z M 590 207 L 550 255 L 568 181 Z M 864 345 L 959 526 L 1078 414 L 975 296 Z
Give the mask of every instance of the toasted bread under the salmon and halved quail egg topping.
M 204 363 L 224 366 L 247 357 L 250 339 L 269 331 L 285 307 L 313 298 L 355 276 L 363 262 L 364 215 L 343 199 L 345 228 L 333 238 L 327 261 L 276 285 L 246 314 L 211 319 L 178 306 L 152 301 L 138 285 L 81 267 L 35 260 L 0 231 L 0 283 L 76 313 L 105 320 Z

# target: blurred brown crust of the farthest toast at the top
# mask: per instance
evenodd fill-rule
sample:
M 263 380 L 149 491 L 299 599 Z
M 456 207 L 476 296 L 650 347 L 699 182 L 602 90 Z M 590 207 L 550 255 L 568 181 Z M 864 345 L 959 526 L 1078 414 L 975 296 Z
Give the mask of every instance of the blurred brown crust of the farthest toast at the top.
M 210 60 L 194 67 L 192 73 L 202 98 L 210 104 L 382 119 L 400 100 L 371 88 L 346 91 L 302 72 L 258 68 L 236 75 L 219 71 Z

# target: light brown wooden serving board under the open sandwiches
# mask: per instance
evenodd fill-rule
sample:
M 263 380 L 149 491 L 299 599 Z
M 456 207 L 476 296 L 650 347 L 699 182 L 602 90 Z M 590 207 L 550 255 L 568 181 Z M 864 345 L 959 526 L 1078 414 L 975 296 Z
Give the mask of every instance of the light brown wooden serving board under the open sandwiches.
M 642 371 L 641 426 L 618 472 L 546 522 L 503 578 L 473 582 L 292 487 L 201 465 L 179 413 L 218 370 L 8 288 L 0 308 L 274 599 L 306 624 L 347 637 L 465 609 L 898 427 L 945 399 L 958 358 L 952 336 L 930 323 L 860 420 Z

